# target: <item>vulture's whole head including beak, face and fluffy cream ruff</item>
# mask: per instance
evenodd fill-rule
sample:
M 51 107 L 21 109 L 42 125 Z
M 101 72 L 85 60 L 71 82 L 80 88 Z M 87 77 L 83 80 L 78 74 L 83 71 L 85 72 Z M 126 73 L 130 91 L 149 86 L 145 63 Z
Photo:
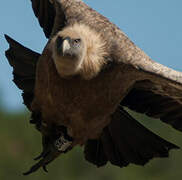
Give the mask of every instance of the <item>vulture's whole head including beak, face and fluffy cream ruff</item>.
M 96 76 L 104 64 L 105 43 L 85 25 L 68 26 L 53 38 L 53 60 L 61 77 Z

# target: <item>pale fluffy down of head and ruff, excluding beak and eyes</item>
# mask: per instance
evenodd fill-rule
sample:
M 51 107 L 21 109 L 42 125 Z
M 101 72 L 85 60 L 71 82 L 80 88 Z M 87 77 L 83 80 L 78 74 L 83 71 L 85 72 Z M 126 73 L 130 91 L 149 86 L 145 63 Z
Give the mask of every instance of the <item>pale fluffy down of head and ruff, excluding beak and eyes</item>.
M 69 60 L 72 57 L 64 57 L 57 52 L 55 44 L 58 36 L 81 39 L 81 51 L 76 59 Z M 53 44 L 54 63 L 62 77 L 79 74 L 84 79 L 91 79 L 100 72 L 102 66 L 106 63 L 104 59 L 107 56 L 105 41 L 99 33 L 89 26 L 83 24 L 68 26 L 58 32 L 56 37 L 53 38 Z

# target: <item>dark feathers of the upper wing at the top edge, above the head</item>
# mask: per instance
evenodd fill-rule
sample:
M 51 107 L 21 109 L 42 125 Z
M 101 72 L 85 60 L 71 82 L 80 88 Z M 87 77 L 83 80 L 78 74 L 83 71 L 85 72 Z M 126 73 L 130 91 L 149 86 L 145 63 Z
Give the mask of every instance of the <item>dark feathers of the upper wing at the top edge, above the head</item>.
M 55 19 L 55 8 L 49 0 L 31 0 L 35 16 L 38 18 L 40 26 L 43 28 L 47 38 L 50 37 Z

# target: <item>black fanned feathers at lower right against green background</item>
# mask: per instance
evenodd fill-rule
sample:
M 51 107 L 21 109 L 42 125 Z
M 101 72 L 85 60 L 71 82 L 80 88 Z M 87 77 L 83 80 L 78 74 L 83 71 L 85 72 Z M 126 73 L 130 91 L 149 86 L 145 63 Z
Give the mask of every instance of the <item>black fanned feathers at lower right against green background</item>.
M 178 147 L 149 131 L 118 107 L 101 138 L 87 142 L 85 158 L 97 166 L 105 165 L 107 160 L 120 167 L 130 163 L 144 165 L 154 157 L 168 157 L 169 150 L 175 148 Z

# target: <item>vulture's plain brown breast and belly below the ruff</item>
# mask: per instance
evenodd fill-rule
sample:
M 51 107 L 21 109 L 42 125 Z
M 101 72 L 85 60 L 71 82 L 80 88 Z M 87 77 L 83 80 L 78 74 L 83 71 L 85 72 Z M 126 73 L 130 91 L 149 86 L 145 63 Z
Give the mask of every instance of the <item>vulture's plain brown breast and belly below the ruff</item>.
M 45 69 L 42 68 L 44 66 Z M 46 61 L 40 59 L 35 89 L 37 98 L 34 99 L 32 108 L 35 111 L 39 110 L 37 107 L 41 108 L 46 123 L 68 127 L 75 140 L 78 138 L 81 144 L 87 139 L 98 138 L 110 122 L 110 115 L 134 83 L 135 75 L 128 76 L 125 73 L 128 68 L 123 65 L 122 76 L 110 68 L 89 81 L 80 76 L 63 79 L 57 73 L 51 58 Z M 48 79 L 44 78 L 45 74 L 49 76 Z M 118 81 L 125 83 L 116 83 Z

